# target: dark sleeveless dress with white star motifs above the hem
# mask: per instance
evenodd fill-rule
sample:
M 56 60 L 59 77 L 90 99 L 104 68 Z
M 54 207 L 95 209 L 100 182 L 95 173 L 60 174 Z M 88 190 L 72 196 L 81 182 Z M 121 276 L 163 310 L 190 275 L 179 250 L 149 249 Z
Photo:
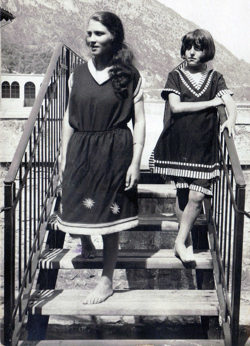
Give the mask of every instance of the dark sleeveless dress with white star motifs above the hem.
M 134 117 L 133 98 L 140 86 L 140 74 L 134 69 L 128 98 L 122 99 L 111 79 L 100 84 L 94 79 L 88 63 L 74 70 L 69 100 L 74 133 L 67 146 L 59 229 L 93 235 L 137 226 L 137 189 L 124 188 L 133 156 L 127 122 Z

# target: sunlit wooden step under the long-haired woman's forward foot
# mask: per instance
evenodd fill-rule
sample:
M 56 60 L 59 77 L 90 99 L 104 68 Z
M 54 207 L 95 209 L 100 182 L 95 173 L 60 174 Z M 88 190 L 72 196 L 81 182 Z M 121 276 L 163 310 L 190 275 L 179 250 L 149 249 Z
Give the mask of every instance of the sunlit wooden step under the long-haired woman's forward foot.
M 90 290 L 35 290 L 28 313 L 32 315 L 108 316 L 215 316 L 215 290 L 116 290 L 100 304 L 82 304 Z

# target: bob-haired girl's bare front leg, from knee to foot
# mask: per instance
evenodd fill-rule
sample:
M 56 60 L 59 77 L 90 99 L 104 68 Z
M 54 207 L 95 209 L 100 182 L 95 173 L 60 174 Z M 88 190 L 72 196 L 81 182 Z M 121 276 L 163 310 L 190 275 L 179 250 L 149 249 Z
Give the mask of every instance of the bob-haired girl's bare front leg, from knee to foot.
M 188 203 L 181 215 L 180 228 L 175 240 L 174 252 L 183 262 L 194 261 L 193 251 L 191 251 L 192 238 L 190 231 L 200 214 L 204 196 L 204 193 L 190 190 Z

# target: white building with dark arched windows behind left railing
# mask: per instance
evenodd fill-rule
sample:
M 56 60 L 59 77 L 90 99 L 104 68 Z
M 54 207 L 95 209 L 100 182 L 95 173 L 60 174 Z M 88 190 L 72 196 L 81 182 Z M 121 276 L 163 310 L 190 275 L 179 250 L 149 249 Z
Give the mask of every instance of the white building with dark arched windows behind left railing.
M 28 118 L 44 74 L 1 74 L 1 118 Z

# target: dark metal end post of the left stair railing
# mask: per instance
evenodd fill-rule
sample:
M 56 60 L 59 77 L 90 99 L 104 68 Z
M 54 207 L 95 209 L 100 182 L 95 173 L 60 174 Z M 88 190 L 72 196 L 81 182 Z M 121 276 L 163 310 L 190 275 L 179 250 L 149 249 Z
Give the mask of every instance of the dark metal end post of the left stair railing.
M 13 311 L 13 223 L 12 202 L 13 185 L 4 185 L 4 345 L 11 345 L 12 311 Z

